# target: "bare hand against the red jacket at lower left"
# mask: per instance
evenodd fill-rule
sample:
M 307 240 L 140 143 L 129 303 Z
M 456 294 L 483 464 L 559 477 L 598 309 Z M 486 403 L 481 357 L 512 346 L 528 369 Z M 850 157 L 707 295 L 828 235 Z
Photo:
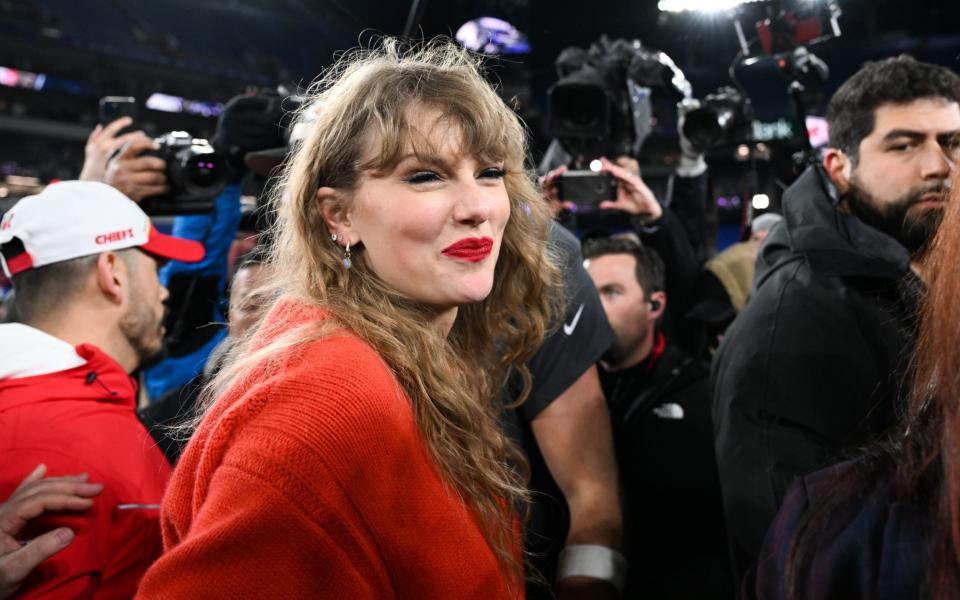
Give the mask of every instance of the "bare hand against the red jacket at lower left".
M 0 504 L 0 600 L 13 596 L 37 565 L 73 540 L 73 531 L 60 527 L 23 543 L 17 535 L 30 519 L 46 511 L 86 510 L 103 490 L 99 483 L 87 483 L 85 473 L 44 479 L 46 472 L 45 465 L 37 466 Z

